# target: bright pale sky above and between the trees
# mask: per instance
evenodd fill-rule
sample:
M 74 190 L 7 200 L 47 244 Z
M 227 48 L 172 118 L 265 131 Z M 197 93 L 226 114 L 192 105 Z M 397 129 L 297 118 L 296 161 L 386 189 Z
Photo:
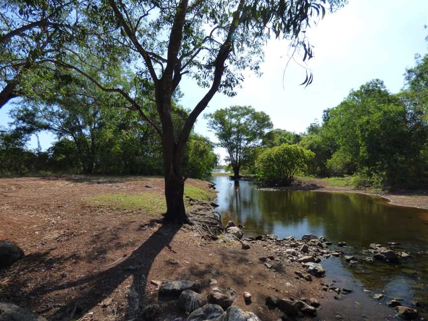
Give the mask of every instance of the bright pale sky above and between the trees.
M 297 133 L 304 132 L 322 111 L 337 106 L 351 89 L 374 78 L 382 79 L 390 92 L 404 86 L 403 74 L 414 65 L 415 54 L 426 54 L 428 35 L 428 0 L 349 0 L 332 14 L 326 14 L 307 36 L 315 56 L 309 67 L 314 72 L 313 83 L 299 86 L 306 77 L 305 70 L 288 60 L 288 43 L 271 40 L 265 49 L 263 75 L 247 73 L 237 90 L 229 98 L 217 93 L 204 112 L 232 105 L 249 105 L 269 114 L 274 128 Z M 180 84 L 184 93 L 180 104 L 192 109 L 206 93 L 191 79 Z M 0 126 L 10 119 L 9 103 L 0 109 Z M 198 118 L 195 131 L 210 137 L 203 115 Z M 43 149 L 50 147 L 54 136 L 40 135 Z M 32 140 L 30 147 L 35 147 Z M 225 156 L 222 149 L 216 153 Z

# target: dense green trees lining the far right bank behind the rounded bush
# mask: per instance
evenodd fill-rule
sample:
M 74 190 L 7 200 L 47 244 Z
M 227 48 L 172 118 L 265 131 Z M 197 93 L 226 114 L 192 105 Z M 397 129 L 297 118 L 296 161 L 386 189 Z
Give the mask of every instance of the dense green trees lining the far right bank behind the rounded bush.
M 297 144 L 314 153 L 308 166 L 300 166 L 307 175 L 352 176 L 350 182 L 357 186 L 427 187 L 428 56 L 416 61 L 415 67 L 406 70 L 406 85 L 397 94 L 375 79 L 352 90 L 338 106 L 324 110 L 321 123 L 312 123 L 303 134 L 269 131 L 243 169 L 267 171 L 257 167 L 266 149 Z M 268 176 L 273 173 L 270 169 Z

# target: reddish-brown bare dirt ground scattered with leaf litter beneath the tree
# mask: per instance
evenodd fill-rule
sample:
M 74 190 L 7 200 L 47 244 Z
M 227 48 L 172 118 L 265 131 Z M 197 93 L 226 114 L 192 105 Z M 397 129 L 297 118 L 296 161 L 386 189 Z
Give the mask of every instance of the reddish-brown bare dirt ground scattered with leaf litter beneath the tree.
M 153 188 L 146 188 L 147 184 Z M 188 184 L 207 186 L 196 180 Z M 380 320 L 362 317 L 365 309 L 356 310 L 352 302 L 342 309 L 343 303 L 333 299 L 334 292 L 321 290 L 324 279 L 296 279 L 294 271 L 301 269 L 300 264 L 267 269 L 259 257 L 274 253 L 260 242 L 247 251 L 221 240 L 201 242 L 188 226 L 162 224 L 161 217 L 151 213 L 94 207 L 83 201 L 88 196 L 142 190 L 163 193 L 163 181 L 1 178 L 0 240 L 16 243 L 26 255 L 0 270 L 0 302 L 17 304 L 52 321 L 174 320 L 185 317 L 177 301 L 158 298 L 151 281 L 207 283 L 214 278 L 218 286 L 238 293 L 235 305 L 263 321 L 281 316 L 278 310 L 267 309 L 268 295 L 318 299 L 321 307 L 315 320 L 336 320 L 339 313 L 342 320 Z M 244 291 L 253 294 L 248 306 Z

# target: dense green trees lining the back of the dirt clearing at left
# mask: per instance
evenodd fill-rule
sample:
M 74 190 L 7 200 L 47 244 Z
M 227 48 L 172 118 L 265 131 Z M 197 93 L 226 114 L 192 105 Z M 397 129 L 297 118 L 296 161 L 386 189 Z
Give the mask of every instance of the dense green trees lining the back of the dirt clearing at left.
M 120 97 L 106 95 L 92 82 L 64 71 L 33 73 L 26 81 L 22 90 L 27 92 L 9 112 L 13 122 L 0 132 L 0 172 L 163 174 L 160 135 L 138 111 L 119 108 L 125 104 Z M 156 112 L 152 105 L 147 109 Z M 172 114 L 178 127 L 188 111 L 173 104 Z M 55 135 L 52 146 L 42 151 L 39 144 L 29 150 L 31 136 L 38 139 L 42 131 Z M 184 176 L 208 177 L 216 163 L 213 143 L 192 133 L 183 160 Z

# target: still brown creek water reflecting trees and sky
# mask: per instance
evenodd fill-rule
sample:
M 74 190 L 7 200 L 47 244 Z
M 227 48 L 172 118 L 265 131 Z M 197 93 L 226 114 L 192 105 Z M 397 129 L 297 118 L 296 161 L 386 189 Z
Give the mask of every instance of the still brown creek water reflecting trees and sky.
M 400 298 L 403 305 L 411 306 L 418 301 L 421 317 L 428 318 L 427 210 L 389 205 L 368 195 L 260 190 L 252 182 L 235 185 L 227 176 L 215 176 L 212 181 L 223 223 L 243 224 L 247 235 L 300 238 L 312 233 L 334 244 L 345 241 L 348 246 L 338 249 L 357 255 L 360 263 L 350 266 L 344 260 L 325 260 L 327 276 L 372 290 L 366 296 L 383 293 L 385 302 Z M 387 242 L 400 243 L 396 251 L 409 253 L 412 259 L 396 265 L 364 261 L 371 256 L 370 243 L 387 246 Z

